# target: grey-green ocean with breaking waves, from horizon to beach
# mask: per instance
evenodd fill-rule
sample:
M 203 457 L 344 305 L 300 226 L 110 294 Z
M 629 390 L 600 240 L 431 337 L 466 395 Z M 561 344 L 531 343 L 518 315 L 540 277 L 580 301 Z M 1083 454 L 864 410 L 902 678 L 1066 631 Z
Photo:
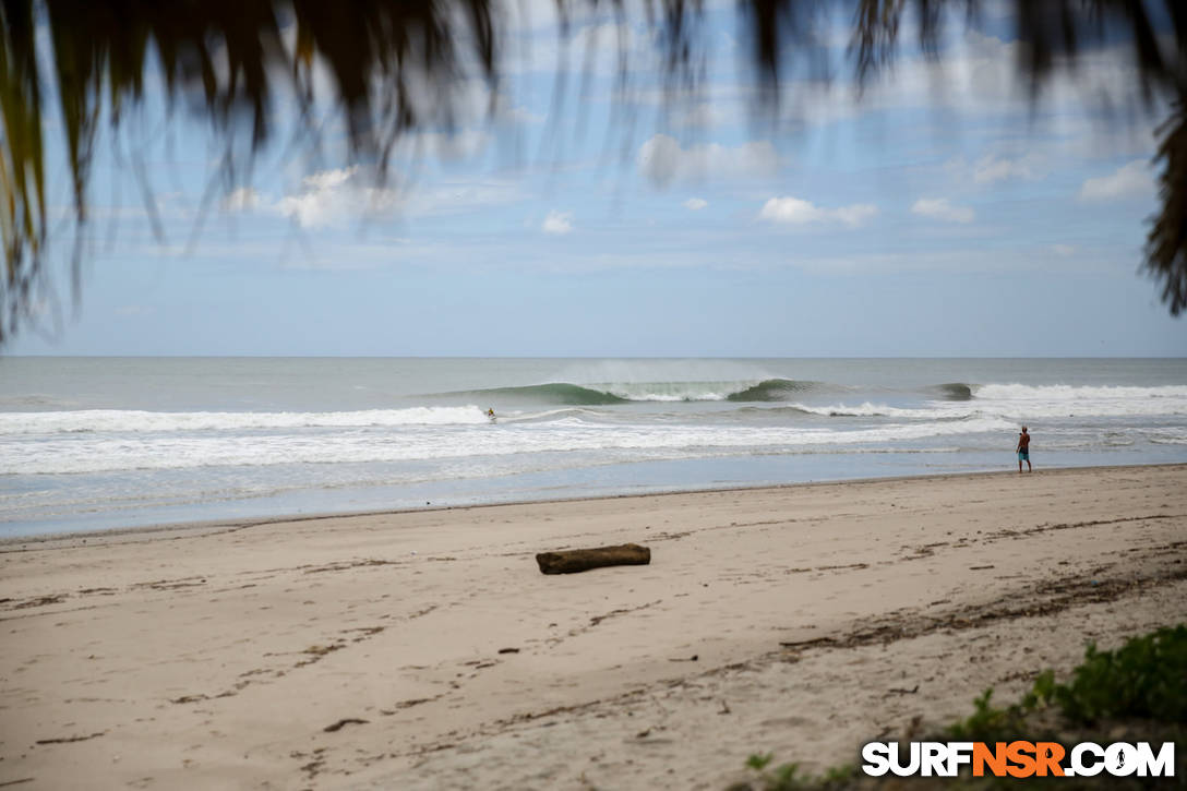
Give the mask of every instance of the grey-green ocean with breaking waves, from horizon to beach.
M 1022 424 L 1187 462 L 1187 359 L 0 357 L 0 537 L 1016 470 Z

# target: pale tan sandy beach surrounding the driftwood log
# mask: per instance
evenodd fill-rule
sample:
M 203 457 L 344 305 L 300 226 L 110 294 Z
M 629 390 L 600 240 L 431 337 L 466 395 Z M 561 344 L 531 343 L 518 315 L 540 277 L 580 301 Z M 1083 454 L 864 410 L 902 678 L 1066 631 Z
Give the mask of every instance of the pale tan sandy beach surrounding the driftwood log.
M 719 790 L 1187 620 L 1185 557 L 1187 466 L 8 543 L 0 786 Z

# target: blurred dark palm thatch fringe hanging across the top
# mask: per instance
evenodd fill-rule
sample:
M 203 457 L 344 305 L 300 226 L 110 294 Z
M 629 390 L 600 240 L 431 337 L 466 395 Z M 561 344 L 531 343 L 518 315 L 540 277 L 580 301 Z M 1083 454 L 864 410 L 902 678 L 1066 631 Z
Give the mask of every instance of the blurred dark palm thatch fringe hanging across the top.
M 628 12 L 626 0 L 556 4 L 563 20 L 594 10 L 622 24 Z M 668 90 L 696 86 L 702 0 L 637 5 L 656 32 Z M 896 57 L 906 19 L 918 20 L 915 44 L 935 56 L 944 20 L 975 20 L 979 6 L 979 0 L 738 0 L 761 88 L 757 109 L 780 101 L 780 78 L 788 71 L 819 65 L 814 43 L 833 33 L 826 29 L 838 15 L 851 15 L 849 52 L 864 83 Z M 226 143 L 221 172 L 228 185 L 274 134 L 272 105 L 283 91 L 297 97 L 300 115 L 332 102 L 348 129 L 348 156 L 374 164 L 383 178 L 402 134 L 451 122 L 464 78 L 477 74 L 496 84 L 515 7 L 514 0 L 0 0 L 0 346 L 32 317 L 38 290 L 47 287 L 53 241 L 45 194 L 47 101 L 59 105 L 76 230 L 88 221 L 99 124 L 119 125 L 141 102 L 153 68 L 161 71 L 170 106 L 193 108 Z M 1161 208 L 1151 217 L 1142 266 L 1179 315 L 1187 308 L 1187 2 L 1015 0 L 1013 18 L 1021 44 L 1016 67 L 1035 102 L 1056 70 L 1074 70 L 1086 51 L 1107 43 L 1130 49 L 1132 88 L 1145 108 L 1169 108 L 1155 156 Z M 332 96 L 316 95 L 315 61 L 332 76 Z M 631 65 L 620 51 L 622 72 Z M 245 132 L 249 144 L 241 150 L 236 140 Z M 304 143 L 316 146 L 316 134 Z M 75 239 L 77 293 L 83 248 L 81 234 Z

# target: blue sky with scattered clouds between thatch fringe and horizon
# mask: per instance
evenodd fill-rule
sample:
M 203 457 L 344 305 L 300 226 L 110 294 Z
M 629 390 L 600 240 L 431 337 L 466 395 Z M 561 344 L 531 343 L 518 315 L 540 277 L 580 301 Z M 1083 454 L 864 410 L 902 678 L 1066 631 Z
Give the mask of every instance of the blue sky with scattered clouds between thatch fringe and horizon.
M 379 186 L 336 156 L 329 118 L 324 157 L 268 148 L 198 224 L 215 141 L 184 112 L 165 120 L 150 89 L 97 146 L 80 310 L 62 264 L 61 329 L 46 308 L 46 331 L 9 352 L 1187 354 L 1183 321 L 1137 272 L 1159 114 L 1125 110 L 1124 51 L 1088 53 L 1033 107 L 1009 27 L 990 13 L 977 31 L 958 20 L 937 64 L 904 46 L 861 102 L 843 67 L 827 88 L 791 78 L 773 121 L 750 112 L 732 4 L 709 4 L 699 96 L 665 102 L 640 18 L 624 99 L 616 39 L 590 18 L 572 27 L 554 106 L 552 4 L 523 7 L 494 114 L 483 83 L 468 83 L 457 127 L 410 137 L 398 179 Z M 838 64 L 846 43 L 831 43 Z M 46 134 L 59 152 L 52 119 Z M 164 241 L 131 176 L 137 157 Z M 65 214 L 65 179 L 51 183 Z

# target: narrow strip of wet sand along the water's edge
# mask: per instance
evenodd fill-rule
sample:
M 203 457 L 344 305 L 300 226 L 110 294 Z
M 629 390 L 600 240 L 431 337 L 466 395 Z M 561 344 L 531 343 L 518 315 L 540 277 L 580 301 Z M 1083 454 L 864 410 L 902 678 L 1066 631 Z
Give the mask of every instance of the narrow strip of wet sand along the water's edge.
M 1087 464 L 1084 467 L 1043 467 L 1037 473 L 1023 473 L 1023 475 L 1040 474 L 1040 475 L 1052 475 L 1052 474 L 1066 474 L 1075 470 L 1122 470 L 1122 469 L 1134 469 L 1134 468 L 1176 468 L 1187 467 L 1187 461 L 1185 462 L 1159 462 L 1159 463 L 1135 463 L 1135 464 Z M 802 487 L 817 487 L 817 486 L 843 486 L 850 483 L 882 483 L 893 481 L 932 481 L 932 480 L 946 480 L 946 479 L 965 479 L 965 477 L 979 477 L 979 476 L 997 476 L 997 475 L 1018 475 L 1016 470 L 973 470 L 967 473 L 925 473 L 920 475 L 886 475 L 877 477 L 846 477 L 837 480 L 824 480 L 824 481 L 794 481 L 788 483 L 779 485 L 757 485 L 757 486 L 729 486 L 722 488 L 690 488 L 690 489 L 660 489 L 654 492 L 636 492 L 636 493 L 624 493 L 624 494 L 603 494 L 592 496 L 563 496 L 563 498 L 546 498 L 546 499 L 527 499 L 527 500 L 507 500 L 507 501 L 493 501 L 493 502 L 475 502 L 469 505 L 443 505 L 443 506 L 420 506 L 411 508 L 381 508 L 381 510 L 368 510 L 368 511 L 325 511 L 317 513 L 296 513 L 285 514 L 279 513 L 274 515 L 249 518 L 241 520 L 228 520 L 228 519 L 198 519 L 198 520 L 186 520 L 186 521 L 166 521 L 152 525 L 139 525 L 135 527 L 110 527 L 110 529 L 97 529 L 97 530 L 75 530 L 64 532 L 52 532 L 52 533 L 37 533 L 32 536 L 0 536 L 0 553 L 23 551 L 23 549 L 13 549 L 18 544 L 37 545 L 42 548 L 50 544 L 88 544 L 95 545 L 109 542 L 128 542 L 128 540 L 167 540 L 170 538 L 179 538 L 190 534 L 208 534 L 218 533 L 227 531 L 237 530 L 249 530 L 252 527 L 261 527 L 275 524 L 290 524 L 290 523 L 304 523 L 304 521 L 322 521 L 326 519 L 358 519 L 369 517 L 393 517 L 399 514 L 412 514 L 412 513 L 437 513 L 437 512 L 466 512 L 478 508 L 497 508 L 502 506 L 532 506 L 532 505 L 545 505 L 545 504 L 566 504 L 566 502 L 597 502 L 602 500 L 629 500 L 629 499 L 641 499 L 641 498 L 666 498 L 666 496 L 680 496 L 686 494 L 712 494 L 712 493 L 730 493 L 730 492 L 777 492 L 788 488 L 802 488 Z M 104 540 L 107 539 L 107 540 Z M 32 549 L 32 546 L 30 548 Z

